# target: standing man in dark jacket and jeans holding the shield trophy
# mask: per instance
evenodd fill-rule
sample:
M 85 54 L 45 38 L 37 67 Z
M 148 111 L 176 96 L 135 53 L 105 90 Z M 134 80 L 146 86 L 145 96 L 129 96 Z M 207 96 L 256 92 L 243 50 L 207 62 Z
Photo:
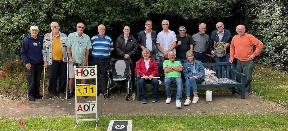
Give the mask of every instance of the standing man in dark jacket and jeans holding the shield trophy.
M 211 51 L 211 54 L 214 56 L 214 60 L 216 63 L 228 62 L 230 58 L 230 43 L 232 41 L 232 35 L 230 31 L 224 29 L 224 24 L 222 22 L 218 22 L 216 24 L 216 29 L 217 30 L 213 31 L 211 34 L 209 50 Z M 217 41 L 223 41 L 226 43 L 226 45 L 224 45 L 226 47 L 226 54 L 224 56 L 217 56 L 214 52 L 214 42 L 217 42 Z M 232 75 L 231 67 L 225 66 L 225 70 L 226 70 L 226 78 L 227 78 L 227 72 L 229 72 L 230 76 Z M 222 78 L 221 76 L 218 76 L 219 72 L 222 72 L 222 66 L 217 66 L 217 70 L 216 70 L 217 77 Z

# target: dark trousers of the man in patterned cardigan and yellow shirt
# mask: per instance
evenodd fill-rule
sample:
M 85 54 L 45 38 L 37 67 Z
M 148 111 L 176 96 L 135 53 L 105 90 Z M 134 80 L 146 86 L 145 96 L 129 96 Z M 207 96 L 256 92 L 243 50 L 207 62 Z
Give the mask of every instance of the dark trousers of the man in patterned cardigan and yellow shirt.
M 53 60 L 49 67 L 49 86 L 48 91 L 50 93 L 57 92 L 57 80 L 59 80 L 59 93 L 64 93 L 66 90 L 67 79 L 67 62 L 62 60 Z

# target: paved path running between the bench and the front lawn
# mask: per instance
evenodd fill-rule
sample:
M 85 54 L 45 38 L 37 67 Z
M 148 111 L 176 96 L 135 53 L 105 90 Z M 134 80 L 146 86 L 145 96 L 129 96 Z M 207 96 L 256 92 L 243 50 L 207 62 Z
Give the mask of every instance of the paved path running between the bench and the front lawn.
M 185 96 L 185 94 L 183 94 Z M 104 100 L 98 96 L 98 115 L 185 115 L 185 114 L 265 114 L 287 113 L 287 109 L 274 102 L 269 102 L 256 95 L 245 97 L 242 100 L 239 95 L 213 94 L 213 101 L 205 104 L 205 94 L 199 94 L 197 104 L 176 108 L 176 94 L 172 94 L 172 101 L 166 104 L 166 95 L 160 94 L 158 103 L 152 103 L 152 95 L 148 95 L 148 103 L 142 104 L 137 100 L 125 100 L 124 94 L 112 95 L 110 100 Z M 82 98 L 81 101 L 93 101 L 95 97 Z M 132 98 L 131 98 L 132 99 Z M 51 100 L 4 100 L 0 99 L 0 117 L 50 117 L 75 115 L 75 98 L 54 98 Z

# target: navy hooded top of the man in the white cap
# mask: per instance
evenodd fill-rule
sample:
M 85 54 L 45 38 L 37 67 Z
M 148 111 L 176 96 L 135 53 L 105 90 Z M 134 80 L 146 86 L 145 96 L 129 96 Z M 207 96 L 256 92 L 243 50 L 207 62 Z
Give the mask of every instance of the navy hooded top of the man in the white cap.
M 34 43 L 37 43 L 34 44 Z M 43 38 L 37 36 L 36 39 L 31 37 L 31 33 L 24 38 L 21 47 L 21 58 L 28 64 L 40 64 L 43 61 L 42 56 Z

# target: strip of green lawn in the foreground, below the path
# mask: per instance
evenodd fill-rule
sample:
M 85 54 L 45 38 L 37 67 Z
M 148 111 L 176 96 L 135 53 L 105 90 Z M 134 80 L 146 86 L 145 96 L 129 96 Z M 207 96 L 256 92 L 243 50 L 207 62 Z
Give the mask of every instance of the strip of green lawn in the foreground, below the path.
M 81 119 L 93 117 L 81 117 Z M 20 130 L 18 118 L 0 118 L 0 129 L 3 131 Z M 75 126 L 75 117 L 29 117 L 25 130 L 66 131 Z M 132 130 L 288 130 L 287 114 L 254 114 L 254 115 L 127 115 L 101 116 L 97 130 L 107 130 L 110 120 L 132 119 Z M 95 130 L 95 121 L 80 121 L 75 131 Z

